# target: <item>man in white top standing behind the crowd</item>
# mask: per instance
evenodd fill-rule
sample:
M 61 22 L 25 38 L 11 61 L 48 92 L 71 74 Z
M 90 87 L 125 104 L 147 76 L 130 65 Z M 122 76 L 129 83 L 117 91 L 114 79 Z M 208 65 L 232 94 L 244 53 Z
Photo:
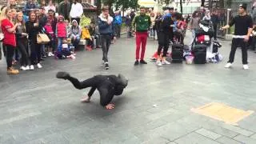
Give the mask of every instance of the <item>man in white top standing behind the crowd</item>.
M 73 0 L 73 4 L 70 10 L 71 22 L 75 19 L 79 25 L 82 14 L 83 14 L 83 9 L 82 9 L 81 3 L 79 3 L 78 0 Z

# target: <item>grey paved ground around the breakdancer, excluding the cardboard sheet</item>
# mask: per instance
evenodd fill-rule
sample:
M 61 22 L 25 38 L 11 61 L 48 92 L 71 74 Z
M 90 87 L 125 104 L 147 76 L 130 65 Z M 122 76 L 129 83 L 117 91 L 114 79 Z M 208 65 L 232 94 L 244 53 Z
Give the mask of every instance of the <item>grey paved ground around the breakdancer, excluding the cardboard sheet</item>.
M 186 41 L 190 38 L 186 38 Z M 223 42 L 227 56 L 230 42 Z M 156 50 L 150 40 L 146 56 Z M 82 51 L 75 60 L 47 58 L 42 70 L 6 75 L 0 62 L 0 143 L 223 143 L 255 144 L 256 114 L 230 126 L 190 111 L 208 102 L 222 102 L 256 111 L 256 54 L 250 52 L 250 70 L 242 70 L 241 50 L 234 68 L 218 64 L 154 63 L 134 67 L 134 39 L 122 38 L 110 49 L 110 70 L 100 66 L 102 52 Z M 114 98 L 117 107 L 104 110 L 98 92 L 92 102 L 79 98 L 70 82 L 54 78 L 66 70 L 84 79 L 94 74 L 125 74 L 129 86 Z M 154 107 L 153 105 L 158 105 Z

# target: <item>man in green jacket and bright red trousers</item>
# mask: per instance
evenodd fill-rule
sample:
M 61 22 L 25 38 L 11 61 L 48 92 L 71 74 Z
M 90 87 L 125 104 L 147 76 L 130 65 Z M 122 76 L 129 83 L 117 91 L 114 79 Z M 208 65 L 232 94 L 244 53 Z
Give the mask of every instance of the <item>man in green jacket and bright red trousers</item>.
M 150 16 L 146 15 L 146 8 L 140 8 L 140 14 L 134 18 L 132 26 L 134 26 L 134 31 L 136 30 L 136 61 L 134 66 L 138 65 L 138 60 L 140 59 L 141 64 L 147 64 L 144 61 L 144 55 L 146 51 L 146 40 L 148 35 L 148 30 L 150 29 Z M 139 58 L 140 49 L 142 46 L 141 57 Z

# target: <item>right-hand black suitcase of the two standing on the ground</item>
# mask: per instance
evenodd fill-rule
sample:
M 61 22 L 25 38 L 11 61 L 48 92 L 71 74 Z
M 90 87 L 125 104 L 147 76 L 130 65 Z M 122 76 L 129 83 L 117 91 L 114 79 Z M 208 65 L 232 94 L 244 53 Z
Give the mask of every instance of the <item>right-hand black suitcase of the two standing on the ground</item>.
M 205 64 L 206 63 L 206 45 L 194 46 L 194 64 Z

